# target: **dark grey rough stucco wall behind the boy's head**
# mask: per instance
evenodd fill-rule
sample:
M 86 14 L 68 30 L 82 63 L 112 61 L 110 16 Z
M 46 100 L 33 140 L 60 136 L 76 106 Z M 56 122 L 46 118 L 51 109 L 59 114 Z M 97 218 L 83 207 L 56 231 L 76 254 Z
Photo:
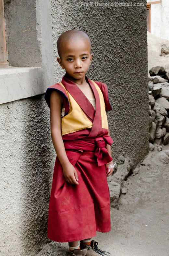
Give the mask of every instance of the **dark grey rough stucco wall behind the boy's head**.
M 146 0 L 141 3 L 144 6 L 101 7 L 89 1 L 51 1 L 55 83 L 64 75 L 56 59 L 59 35 L 70 29 L 84 31 L 94 53 L 87 76 L 109 88 L 113 158 L 124 152 L 133 168 L 148 154 L 149 145 Z

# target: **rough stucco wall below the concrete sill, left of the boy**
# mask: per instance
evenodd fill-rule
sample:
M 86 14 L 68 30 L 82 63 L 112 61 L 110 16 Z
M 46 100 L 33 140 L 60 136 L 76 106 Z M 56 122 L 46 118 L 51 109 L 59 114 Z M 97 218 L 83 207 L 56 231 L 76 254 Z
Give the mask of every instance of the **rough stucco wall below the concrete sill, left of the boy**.
M 44 95 L 0 105 L 0 254 L 34 256 L 47 241 L 56 153 Z

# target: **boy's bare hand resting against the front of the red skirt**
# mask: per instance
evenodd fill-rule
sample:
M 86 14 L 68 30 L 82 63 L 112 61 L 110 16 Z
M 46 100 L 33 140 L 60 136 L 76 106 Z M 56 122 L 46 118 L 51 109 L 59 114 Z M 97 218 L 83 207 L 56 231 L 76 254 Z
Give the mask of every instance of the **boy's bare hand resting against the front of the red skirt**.
M 63 167 L 63 175 L 67 182 L 79 185 L 77 171 L 71 163 Z

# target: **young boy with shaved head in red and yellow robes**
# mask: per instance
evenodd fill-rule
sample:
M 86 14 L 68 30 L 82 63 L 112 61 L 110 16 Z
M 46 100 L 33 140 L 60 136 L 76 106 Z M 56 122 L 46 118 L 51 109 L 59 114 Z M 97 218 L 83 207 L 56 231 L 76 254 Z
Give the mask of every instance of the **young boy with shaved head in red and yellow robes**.
M 110 255 L 92 240 L 96 231 L 111 230 L 107 177 L 113 172 L 111 168 L 108 173 L 113 140 L 106 115 L 112 109 L 108 88 L 85 76 L 93 54 L 84 32 L 66 31 L 57 46 L 57 60 L 66 73 L 45 93 L 57 153 L 47 236 L 69 242 L 69 255 Z

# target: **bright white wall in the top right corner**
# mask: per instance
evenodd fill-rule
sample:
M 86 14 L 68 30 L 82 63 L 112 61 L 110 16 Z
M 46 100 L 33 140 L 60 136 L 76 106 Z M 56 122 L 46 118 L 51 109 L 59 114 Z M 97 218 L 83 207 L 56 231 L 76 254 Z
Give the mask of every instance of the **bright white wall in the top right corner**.
M 147 0 L 147 2 L 153 2 Z M 169 40 L 169 1 L 151 5 L 151 34 Z

